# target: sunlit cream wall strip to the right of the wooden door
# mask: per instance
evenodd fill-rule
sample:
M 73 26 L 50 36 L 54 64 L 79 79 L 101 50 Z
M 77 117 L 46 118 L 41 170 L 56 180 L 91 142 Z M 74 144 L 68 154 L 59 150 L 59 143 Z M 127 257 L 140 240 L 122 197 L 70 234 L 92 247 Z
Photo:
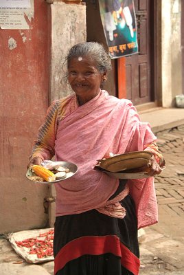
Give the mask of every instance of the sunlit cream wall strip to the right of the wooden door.
M 181 0 L 162 0 L 162 97 L 163 107 L 174 106 L 182 94 Z

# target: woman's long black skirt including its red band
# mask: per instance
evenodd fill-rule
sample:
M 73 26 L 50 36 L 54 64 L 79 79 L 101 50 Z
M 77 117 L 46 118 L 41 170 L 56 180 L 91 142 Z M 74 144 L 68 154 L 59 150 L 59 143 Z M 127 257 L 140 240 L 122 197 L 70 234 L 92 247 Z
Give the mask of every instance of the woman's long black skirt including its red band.
M 135 204 L 130 195 L 121 204 L 126 208 L 124 219 L 97 210 L 56 217 L 55 275 L 139 274 Z

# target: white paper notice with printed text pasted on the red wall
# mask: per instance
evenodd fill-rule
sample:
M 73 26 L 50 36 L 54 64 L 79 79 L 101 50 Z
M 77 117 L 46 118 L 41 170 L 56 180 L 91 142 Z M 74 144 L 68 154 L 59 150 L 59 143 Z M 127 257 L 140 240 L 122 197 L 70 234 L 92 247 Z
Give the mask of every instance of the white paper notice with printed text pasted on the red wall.
M 34 18 L 34 0 L 0 0 L 0 28 L 28 30 Z M 27 20 L 26 20 L 27 19 Z

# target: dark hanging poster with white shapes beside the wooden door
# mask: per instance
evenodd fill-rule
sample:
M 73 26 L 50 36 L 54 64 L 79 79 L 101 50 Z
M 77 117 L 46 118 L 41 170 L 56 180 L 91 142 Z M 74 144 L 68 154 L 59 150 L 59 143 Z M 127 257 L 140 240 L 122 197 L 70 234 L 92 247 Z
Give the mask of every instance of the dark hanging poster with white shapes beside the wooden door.
M 111 58 L 138 52 L 133 0 L 99 0 L 100 17 Z

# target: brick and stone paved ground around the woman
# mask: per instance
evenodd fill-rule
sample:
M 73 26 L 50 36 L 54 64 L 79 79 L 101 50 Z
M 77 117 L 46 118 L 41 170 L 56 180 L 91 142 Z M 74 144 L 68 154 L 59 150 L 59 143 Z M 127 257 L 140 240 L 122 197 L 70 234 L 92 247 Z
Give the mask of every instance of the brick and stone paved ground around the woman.
M 139 275 L 184 275 L 184 125 L 156 135 L 166 168 L 155 177 L 159 223 L 145 228 L 139 237 Z M 53 275 L 53 270 L 53 261 L 25 263 L 0 236 L 1 275 Z

